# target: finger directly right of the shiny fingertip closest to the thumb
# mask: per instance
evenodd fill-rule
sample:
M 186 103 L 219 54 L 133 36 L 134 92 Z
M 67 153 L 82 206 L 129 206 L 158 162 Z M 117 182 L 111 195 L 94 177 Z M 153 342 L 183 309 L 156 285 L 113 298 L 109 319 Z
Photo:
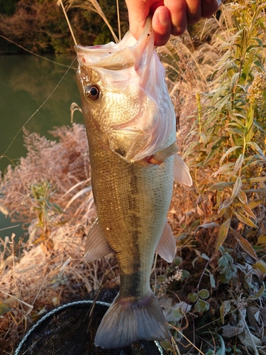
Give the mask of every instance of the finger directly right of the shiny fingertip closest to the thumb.
M 185 0 L 165 0 L 170 12 L 172 35 L 182 35 L 187 29 L 187 4 Z

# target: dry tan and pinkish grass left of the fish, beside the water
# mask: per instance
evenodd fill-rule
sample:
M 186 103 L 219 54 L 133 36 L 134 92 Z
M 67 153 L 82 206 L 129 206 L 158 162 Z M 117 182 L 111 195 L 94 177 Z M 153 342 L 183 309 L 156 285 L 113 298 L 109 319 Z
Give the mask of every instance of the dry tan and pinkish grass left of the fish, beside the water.
M 96 217 L 84 126 L 73 124 L 50 132 L 58 141 L 24 133 L 28 154 L 16 167 L 9 166 L 1 180 L 1 204 L 13 221 L 30 223 L 27 242 L 16 244 L 13 235 L 0 246 L 0 348 L 4 354 L 13 354 L 15 344 L 43 312 L 84 298 L 101 283 L 105 287 L 118 283 L 113 256 L 94 263 L 83 258 L 87 232 Z M 62 213 L 46 207 L 44 229 L 39 219 L 41 198 L 33 194 L 33 186 L 46 182 L 52 187 L 46 196 L 49 204 L 60 207 Z

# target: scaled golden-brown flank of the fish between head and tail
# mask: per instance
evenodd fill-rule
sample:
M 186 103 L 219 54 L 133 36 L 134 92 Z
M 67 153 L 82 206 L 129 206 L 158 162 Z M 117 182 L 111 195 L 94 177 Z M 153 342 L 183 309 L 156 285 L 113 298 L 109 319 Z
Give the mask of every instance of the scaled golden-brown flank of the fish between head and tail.
M 89 151 L 97 215 L 106 230 L 111 249 L 116 252 L 121 270 L 121 290 L 123 275 L 135 278 L 133 271 L 135 265 L 140 265 L 143 251 L 140 268 L 145 275 L 145 283 L 140 278 L 140 285 L 145 295 L 155 248 L 162 235 L 172 196 L 173 158 L 148 168 L 138 163 L 127 163 L 116 153 L 99 151 L 96 132 L 92 132 L 92 126 L 88 129 L 89 137 L 93 137 L 89 138 Z M 127 278 L 127 282 L 136 289 L 140 288 L 135 279 Z M 143 293 L 136 297 L 143 297 Z

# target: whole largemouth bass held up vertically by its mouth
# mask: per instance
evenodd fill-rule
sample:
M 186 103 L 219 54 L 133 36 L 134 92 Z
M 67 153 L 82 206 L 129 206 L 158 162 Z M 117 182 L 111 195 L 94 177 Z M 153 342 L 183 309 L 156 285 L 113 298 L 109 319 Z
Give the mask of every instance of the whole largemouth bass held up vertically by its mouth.
M 151 20 L 138 40 L 128 32 L 119 43 L 74 49 L 97 213 L 84 257 L 114 253 L 121 283 L 94 344 L 113 349 L 140 339 L 167 341 L 150 272 L 155 251 L 167 262 L 175 256 L 167 223 L 173 181 L 191 186 L 192 178 L 177 155 L 174 107 Z

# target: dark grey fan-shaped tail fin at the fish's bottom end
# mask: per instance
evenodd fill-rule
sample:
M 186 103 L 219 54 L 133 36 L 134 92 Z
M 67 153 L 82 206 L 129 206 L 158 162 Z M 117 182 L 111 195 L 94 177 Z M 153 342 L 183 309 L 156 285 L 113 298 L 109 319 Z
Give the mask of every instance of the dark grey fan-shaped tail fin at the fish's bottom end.
M 95 337 L 95 346 L 114 349 L 140 339 L 165 342 L 170 339 L 167 322 L 154 293 L 132 301 L 117 295 L 104 315 Z

